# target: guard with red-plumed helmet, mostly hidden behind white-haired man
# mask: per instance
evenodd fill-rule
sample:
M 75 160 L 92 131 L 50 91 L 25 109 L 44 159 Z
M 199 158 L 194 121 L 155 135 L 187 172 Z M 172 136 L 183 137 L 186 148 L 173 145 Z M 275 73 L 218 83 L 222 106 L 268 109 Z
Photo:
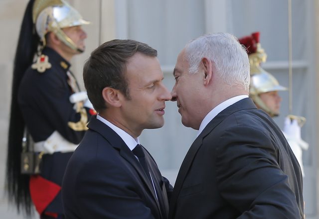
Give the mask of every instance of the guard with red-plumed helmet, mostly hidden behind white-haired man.
M 259 109 L 263 109 L 271 117 L 278 116 L 280 112 L 281 97 L 278 91 L 286 91 L 277 79 L 260 67 L 266 62 L 267 55 L 259 42 L 260 33 L 252 33 L 251 36 L 242 37 L 239 42 L 246 47 L 250 64 L 250 88 L 249 96 Z M 289 115 L 285 119 L 283 133 L 293 150 L 304 175 L 303 151 L 309 145 L 301 138 L 301 126 L 304 121 L 301 117 Z

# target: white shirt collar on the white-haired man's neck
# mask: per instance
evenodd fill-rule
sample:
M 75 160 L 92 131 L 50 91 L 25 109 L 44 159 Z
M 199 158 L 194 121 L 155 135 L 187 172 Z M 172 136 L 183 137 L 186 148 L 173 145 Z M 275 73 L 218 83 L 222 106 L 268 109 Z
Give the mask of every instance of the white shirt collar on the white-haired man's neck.
M 214 109 L 212 109 L 208 114 L 204 117 L 204 119 L 201 121 L 197 136 L 204 130 L 206 125 L 213 119 L 215 116 L 221 112 L 222 110 L 226 109 L 227 107 L 237 103 L 238 101 L 241 101 L 245 98 L 248 98 L 248 95 L 239 95 L 233 98 L 230 98 L 219 105 L 217 105 Z

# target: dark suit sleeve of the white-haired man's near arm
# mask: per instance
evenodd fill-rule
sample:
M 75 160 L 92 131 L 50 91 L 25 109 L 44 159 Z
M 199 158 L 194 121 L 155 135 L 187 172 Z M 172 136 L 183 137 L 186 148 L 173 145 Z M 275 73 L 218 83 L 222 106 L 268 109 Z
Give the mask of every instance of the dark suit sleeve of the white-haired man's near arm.
M 217 185 L 220 195 L 242 213 L 239 219 L 301 218 L 270 136 L 250 127 L 233 127 L 220 139 Z

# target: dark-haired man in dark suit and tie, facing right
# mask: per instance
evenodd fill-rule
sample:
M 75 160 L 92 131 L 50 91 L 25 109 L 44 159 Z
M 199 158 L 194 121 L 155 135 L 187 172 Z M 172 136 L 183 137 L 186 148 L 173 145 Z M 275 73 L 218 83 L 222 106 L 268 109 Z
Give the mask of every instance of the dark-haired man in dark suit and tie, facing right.
M 138 139 L 163 126 L 171 99 L 157 51 L 134 40 L 106 42 L 91 53 L 83 78 L 98 115 L 64 175 L 66 217 L 166 219 L 172 187 Z

